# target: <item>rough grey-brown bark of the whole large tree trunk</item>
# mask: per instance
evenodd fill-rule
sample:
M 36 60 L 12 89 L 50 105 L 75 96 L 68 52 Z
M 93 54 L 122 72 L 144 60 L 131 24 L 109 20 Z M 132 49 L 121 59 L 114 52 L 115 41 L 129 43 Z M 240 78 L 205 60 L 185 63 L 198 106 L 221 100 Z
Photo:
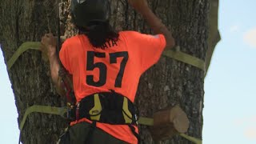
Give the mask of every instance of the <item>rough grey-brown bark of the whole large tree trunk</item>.
M 149 0 L 154 13 L 172 30 L 177 45 L 187 54 L 206 60 L 209 0 Z M 76 34 L 69 16 L 70 0 L 61 1 L 62 34 Z M 56 34 L 58 2 L 52 0 L 1 0 L 0 42 L 6 62 L 22 42 L 40 41 L 47 32 Z M 150 33 L 140 14 L 126 0 L 111 1 L 110 22 L 117 30 Z M 39 51 L 22 54 L 8 71 L 18 109 L 18 123 L 29 106 L 65 106 L 50 81 L 48 63 Z M 178 104 L 190 119 L 190 136 L 202 138 L 204 72 L 194 66 L 162 57 L 142 75 L 136 104 L 140 115 L 150 117 L 159 109 Z M 62 118 L 30 114 L 22 131 L 22 143 L 55 143 L 66 127 Z M 140 126 L 142 143 L 154 143 L 149 127 Z M 175 136 L 162 143 L 192 143 Z

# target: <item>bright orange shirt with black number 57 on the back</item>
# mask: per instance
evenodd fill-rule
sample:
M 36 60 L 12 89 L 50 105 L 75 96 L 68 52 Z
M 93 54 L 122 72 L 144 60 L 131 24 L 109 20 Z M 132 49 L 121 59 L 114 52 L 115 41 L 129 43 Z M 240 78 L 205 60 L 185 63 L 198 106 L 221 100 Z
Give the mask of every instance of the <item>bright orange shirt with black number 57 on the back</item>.
M 59 57 L 73 75 L 74 93 L 78 102 L 87 95 L 114 90 L 134 102 L 140 76 L 153 66 L 162 54 L 166 40 L 162 34 L 119 32 L 118 41 L 94 47 L 86 35 L 66 39 Z M 137 139 L 128 126 L 97 123 L 115 138 L 129 143 Z

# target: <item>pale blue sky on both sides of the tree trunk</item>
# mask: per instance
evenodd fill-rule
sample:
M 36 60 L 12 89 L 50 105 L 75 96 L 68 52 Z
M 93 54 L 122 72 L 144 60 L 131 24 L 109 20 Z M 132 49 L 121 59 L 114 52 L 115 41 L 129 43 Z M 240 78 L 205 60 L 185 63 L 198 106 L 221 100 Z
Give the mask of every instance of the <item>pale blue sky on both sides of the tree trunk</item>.
M 204 144 L 256 143 L 255 15 L 255 0 L 220 0 L 222 40 L 205 79 Z M 0 91 L 0 143 L 18 143 L 18 114 L 1 50 Z

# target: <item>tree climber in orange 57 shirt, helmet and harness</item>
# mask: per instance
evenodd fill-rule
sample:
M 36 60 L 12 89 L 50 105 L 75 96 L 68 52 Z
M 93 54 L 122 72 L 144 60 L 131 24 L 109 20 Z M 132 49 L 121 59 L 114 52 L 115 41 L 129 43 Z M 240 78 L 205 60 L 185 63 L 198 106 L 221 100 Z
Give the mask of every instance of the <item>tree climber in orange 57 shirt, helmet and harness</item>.
M 146 0 L 128 2 L 157 35 L 116 32 L 108 21 L 108 0 L 71 1 L 79 33 L 66 39 L 59 58 L 73 81 L 76 119 L 62 137 L 63 143 L 138 143 L 133 103 L 139 78 L 158 62 L 164 48 L 174 46 L 174 38 Z M 51 78 L 63 94 L 53 34 L 43 36 L 42 44 L 47 49 Z

